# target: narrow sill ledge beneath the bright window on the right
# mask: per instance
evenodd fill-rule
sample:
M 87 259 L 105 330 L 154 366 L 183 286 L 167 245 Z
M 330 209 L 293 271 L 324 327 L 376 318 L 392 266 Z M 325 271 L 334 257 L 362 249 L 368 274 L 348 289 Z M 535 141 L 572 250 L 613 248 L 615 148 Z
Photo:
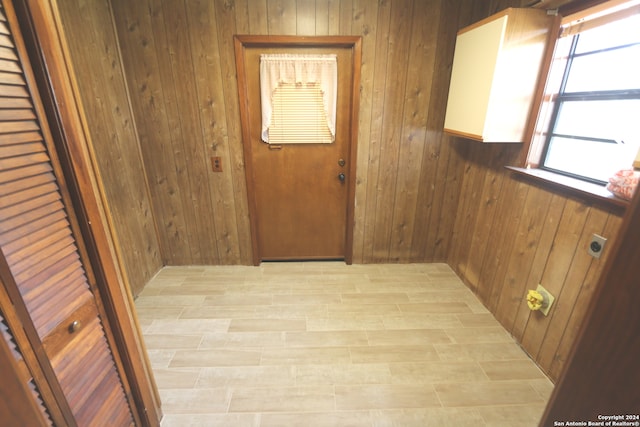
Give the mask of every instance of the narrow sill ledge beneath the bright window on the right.
M 604 186 L 584 182 L 579 179 L 571 178 L 557 173 L 545 171 L 542 169 L 525 169 L 515 166 L 506 166 L 507 169 L 528 179 L 542 187 L 561 190 L 563 192 L 577 195 L 589 202 L 599 202 L 608 207 L 626 208 L 629 202 L 611 194 Z

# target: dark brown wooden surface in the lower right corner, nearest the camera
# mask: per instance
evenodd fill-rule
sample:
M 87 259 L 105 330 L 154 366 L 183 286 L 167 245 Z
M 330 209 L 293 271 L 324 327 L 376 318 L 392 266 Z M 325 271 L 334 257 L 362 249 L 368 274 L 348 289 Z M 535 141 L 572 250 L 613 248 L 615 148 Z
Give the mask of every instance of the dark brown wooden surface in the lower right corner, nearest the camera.
M 595 420 L 603 418 L 603 413 L 638 418 L 639 201 L 636 193 L 619 228 L 619 240 L 610 250 L 615 258 L 605 263 L 579 339 L 540 425 L 559 424 L 554 420 Z

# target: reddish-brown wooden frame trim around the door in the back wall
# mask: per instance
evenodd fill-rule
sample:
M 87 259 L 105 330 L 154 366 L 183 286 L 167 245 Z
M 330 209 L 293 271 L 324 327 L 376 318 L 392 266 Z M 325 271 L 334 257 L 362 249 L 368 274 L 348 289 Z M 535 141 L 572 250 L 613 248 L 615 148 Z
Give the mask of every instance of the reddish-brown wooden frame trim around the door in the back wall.
M 360 106 L 360 71 L 362 64 L 361 36 L 260 36 L 235 35 L 234 48 L 236 56 L 236 71 L 238 77 L 238 99 L 240 103 L 240 123 L 242 127 L 242 148 L 244 154 L 245 178 L 247 181 L 247 197 L 249 206 L 249 224 L 251 228 L 251 248 L 253 264 L 261 261 L 258 246 L 258 210 L 256 206 L 255 187 L 253 185 L 253 162 L 251 151 L 251 133 L 249 122 L 249 94 L 245 70 L 246 48 L 272 47 L 335 47 L 350 48 L 352 50 L 352 81 L 351 81 L 351 117 L 349 118 L 350 147 L 349 165 L 347 166 L 347 223 L 345 236 L 345 262 L 353 262 L 353 229 L 356 190 L 356 154 L 358 148 L 358 113 Z

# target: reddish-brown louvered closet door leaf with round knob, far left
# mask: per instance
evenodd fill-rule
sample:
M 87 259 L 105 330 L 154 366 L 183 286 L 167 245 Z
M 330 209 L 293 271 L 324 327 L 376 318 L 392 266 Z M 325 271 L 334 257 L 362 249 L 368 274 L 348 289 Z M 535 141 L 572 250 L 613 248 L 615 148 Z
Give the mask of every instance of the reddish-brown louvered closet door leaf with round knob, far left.
M 80 426 L 133 424 L 97 303 L 0 8 L 0 256 Z M 73 423 L 73 420 L 70 421 Z

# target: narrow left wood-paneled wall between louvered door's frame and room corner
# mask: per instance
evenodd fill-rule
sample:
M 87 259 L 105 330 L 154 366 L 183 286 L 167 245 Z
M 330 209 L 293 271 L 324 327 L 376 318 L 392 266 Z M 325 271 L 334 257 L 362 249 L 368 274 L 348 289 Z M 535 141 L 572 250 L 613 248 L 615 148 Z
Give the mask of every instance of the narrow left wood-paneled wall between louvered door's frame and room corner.
M 137 295 L 162 267 L 162 258 L 109 2 L 57 3 L 117 252 Z

